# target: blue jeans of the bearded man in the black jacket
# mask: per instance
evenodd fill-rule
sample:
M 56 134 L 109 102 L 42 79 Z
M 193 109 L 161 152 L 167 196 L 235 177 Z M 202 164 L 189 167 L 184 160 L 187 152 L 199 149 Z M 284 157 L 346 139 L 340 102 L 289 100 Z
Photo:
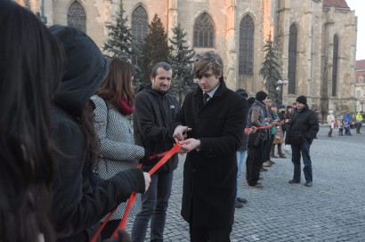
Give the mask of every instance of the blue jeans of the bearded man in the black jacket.
M 171 195 L 174 172 L 154 173 L 150 188 L 142 194 L 142 211 L 134 219 L 132 240 L 143 242 L 150 222 L 150 241 L 163 241 L 168 199 Z

